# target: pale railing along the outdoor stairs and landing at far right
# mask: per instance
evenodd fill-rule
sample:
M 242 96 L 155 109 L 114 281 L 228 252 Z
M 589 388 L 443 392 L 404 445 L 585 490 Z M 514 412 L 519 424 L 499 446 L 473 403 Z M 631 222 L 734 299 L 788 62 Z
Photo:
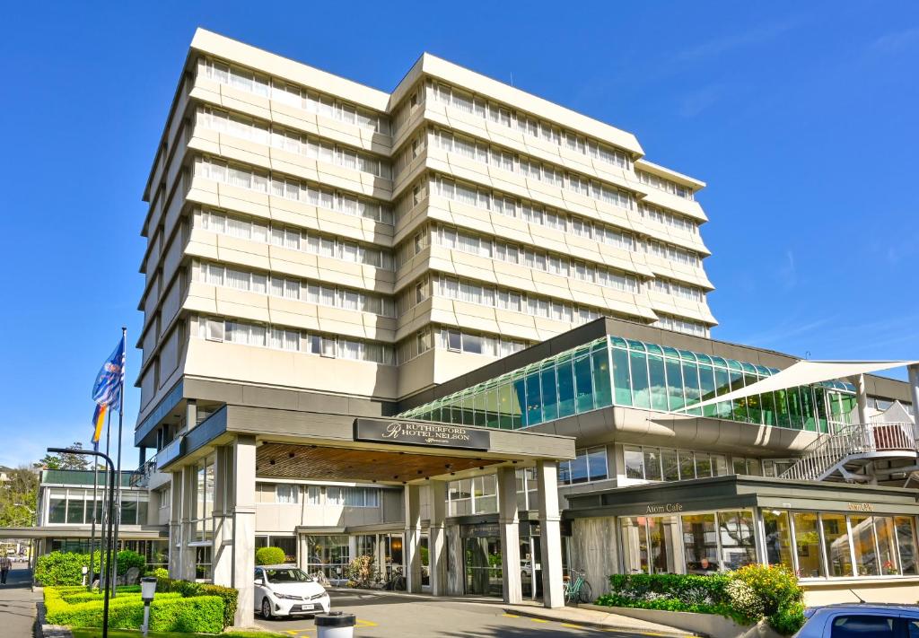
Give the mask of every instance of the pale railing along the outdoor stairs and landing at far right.
M 820 481 L 834 473 L 849 457 L 879 451 L 919 452 L 919 429 L 911 422 L 874 421 L 840 424 L 833 434 L 821 434 L 801 454 L 800 459 L 779 478 Z

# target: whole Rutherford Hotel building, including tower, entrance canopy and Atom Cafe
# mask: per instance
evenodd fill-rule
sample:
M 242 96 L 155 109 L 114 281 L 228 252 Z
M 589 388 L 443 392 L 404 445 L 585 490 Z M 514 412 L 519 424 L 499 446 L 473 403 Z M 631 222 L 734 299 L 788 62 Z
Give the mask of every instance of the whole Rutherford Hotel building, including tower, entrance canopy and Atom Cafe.
M 914 601 L 916 369 L 712 340 L 704 186 L 426 53 L 386 93 L 199 29 L 142 225 L 171 573 L 240 624 L 265 544 L 550 607 L 703 558 Z

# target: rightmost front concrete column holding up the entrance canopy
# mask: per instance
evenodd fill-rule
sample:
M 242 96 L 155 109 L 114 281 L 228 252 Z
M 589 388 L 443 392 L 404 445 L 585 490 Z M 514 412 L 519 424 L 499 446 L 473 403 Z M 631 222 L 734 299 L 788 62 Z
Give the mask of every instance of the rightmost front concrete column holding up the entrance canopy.
M 564 607 L 562 592 L 562 530 L 559 527 L 559 464 L 539 461 L 539 529 L 542 544 L 542 604 L 555 609 Z

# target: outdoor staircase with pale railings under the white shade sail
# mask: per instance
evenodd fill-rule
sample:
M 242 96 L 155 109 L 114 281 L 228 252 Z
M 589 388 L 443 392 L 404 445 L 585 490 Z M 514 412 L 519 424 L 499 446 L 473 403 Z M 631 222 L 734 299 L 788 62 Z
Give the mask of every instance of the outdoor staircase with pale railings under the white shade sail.
M 857 473 L 878 459 L 916 459 L 919 431 L 912 422 L 853 423 L 840 425 L 834 434 L 822 434 L 804 449 L 800 459 L 779 478 L 795 481 L 868 481 Z

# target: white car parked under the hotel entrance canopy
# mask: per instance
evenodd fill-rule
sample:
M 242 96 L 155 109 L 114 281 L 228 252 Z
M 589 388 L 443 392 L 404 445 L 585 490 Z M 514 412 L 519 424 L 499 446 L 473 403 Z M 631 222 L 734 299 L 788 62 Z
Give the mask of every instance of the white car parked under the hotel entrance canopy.
M 255 567 L 255 609 L 262 618 L 312 615 L 328 612 L 325 587 L 296 565 L 274 564 Z

